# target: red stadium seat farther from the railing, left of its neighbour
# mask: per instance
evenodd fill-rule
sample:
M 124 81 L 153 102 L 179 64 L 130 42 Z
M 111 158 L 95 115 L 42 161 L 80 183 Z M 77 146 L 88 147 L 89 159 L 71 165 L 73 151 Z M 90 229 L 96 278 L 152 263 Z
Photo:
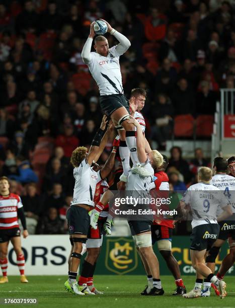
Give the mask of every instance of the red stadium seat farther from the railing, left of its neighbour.
M 175 137 L 192 137 L 194 135 L 194 118 L 191 114 L 181 114 L 174 119 Z

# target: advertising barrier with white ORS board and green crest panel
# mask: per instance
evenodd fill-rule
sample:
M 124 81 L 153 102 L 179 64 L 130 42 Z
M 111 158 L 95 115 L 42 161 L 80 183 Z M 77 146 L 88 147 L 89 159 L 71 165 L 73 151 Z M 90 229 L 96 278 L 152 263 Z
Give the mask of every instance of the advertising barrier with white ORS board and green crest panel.
M 189 237 L 173 237 L 172 250 L 180 265 L 183 275 L 194 275 L 191 266 Z M 22 239 L 26 259 L 26 275 L 66 275 L 68 271 L 67 257 L 70 252 L 68 235 L 35 235 L 26 240 Z M 216 267 L 228 253 L 225 244 L 218 258 Z M 160 261 L 161 275 L 170 275 L 165 261 L 155 247 L 156 255 Z M 15 265 L 15 266 L 14 266 Z M 9 275 L 18 275 L 16 255 L 12 245 L 9 247 Z M 97 275 L 144 275 L 139 256 L 134 248 L 131 237 L 105 237 L 98 260 Z M 231 267 L 227 275 L 235 275 L 235 266 Z

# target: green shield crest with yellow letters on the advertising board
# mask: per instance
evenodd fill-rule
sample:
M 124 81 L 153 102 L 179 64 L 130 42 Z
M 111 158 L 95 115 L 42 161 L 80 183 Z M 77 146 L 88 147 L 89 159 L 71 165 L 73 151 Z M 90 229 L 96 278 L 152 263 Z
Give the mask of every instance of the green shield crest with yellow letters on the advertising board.
M 132 239 L 107 239 L 105 266 L 119 275 L 133 271 L 138 265 L 137 251 Z

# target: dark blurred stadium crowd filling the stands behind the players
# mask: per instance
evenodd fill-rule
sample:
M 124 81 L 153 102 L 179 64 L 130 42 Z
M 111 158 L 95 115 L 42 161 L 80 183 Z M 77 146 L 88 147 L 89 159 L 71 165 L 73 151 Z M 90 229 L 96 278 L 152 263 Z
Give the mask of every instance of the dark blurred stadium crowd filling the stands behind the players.
M 0 174 L 22 196 L 36 233 L 67 233 L 74 186 L 69 158 L 77 145 L 89 147 L 102 118 L 98 88 L 81 57 L 91 22 L 104 18 L 131 41 L 120 58 L 124 92 L 147 90 L 145 133 L 160 150 L 172 136 L 174 116 L 213 115 L 219 88 L 234 88 L 234 1 L 155 3 L 1 1 Z M 114 36 L 107 39 L 115 45 Z M 199 166 L 208 166 L 202 149 L 188 162 L 174 146 L 171 188 L 194 183 Z

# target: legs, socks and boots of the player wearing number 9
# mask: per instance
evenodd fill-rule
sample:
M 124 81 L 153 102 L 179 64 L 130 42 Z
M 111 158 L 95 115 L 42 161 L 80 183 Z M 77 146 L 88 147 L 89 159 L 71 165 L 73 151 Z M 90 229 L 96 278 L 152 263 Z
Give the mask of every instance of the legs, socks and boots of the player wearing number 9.
M 205 253 L 206 253 L 205 249 L 202 251 L 190 250 L 192 266 L 197 271 L 197 277 L 205 277 L 210 282 L 214 283 L 216 286 L 219 287 L 220 297 L 223 298 L 226 296 L 226 291 L 225 291 L 226 283 L 222 280 L 219 280 L 212 273 L 211 269 L 206 266 L 205 258 L 204 258 Z M 183 297 L 185 298 L 200 297 L 201 287 L 202 287 L 202 279 L 197 278 L 194 289 L 184 294 Z

